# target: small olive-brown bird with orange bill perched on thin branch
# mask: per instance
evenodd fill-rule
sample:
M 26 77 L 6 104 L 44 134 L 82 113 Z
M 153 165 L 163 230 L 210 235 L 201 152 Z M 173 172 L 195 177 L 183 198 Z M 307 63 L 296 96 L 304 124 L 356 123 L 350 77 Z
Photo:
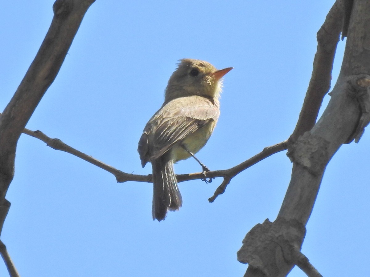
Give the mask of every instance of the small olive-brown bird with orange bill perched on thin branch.
M 164 103 L 145 126 L 138 146 L 142 167 L 152 164 L 153 220 L 181 207 L 174 163 L 195 158 L 208 141 L 220 114 L 221 78 L 231 69 L 182 59 L 169 78 Z M 201 165 L 204 173 L 209 171 Z

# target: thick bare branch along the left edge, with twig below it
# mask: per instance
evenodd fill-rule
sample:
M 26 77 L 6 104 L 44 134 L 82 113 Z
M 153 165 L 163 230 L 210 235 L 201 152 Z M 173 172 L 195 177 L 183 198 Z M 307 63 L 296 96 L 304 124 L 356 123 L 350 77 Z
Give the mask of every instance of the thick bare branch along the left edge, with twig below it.
M 95 0 L 57 0 L 46 37 L 26 75 L 0 115 L 0 234 L 9 211 L 6 192 L 14 177 L 14 160 L 19 137 L 41 98 L 53 83 L 73 38 L 90 5 Z M 11 276 L 18 276 L 2 249 Z M 14 269 L 14 270 L 13 270 Z

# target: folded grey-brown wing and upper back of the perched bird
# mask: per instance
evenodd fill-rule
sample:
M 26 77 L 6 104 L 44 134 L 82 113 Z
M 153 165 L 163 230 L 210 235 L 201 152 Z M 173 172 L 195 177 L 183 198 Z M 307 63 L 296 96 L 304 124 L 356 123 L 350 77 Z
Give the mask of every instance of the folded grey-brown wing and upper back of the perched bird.
M 218 116 L 218 107 L 208 98 L 188 96 L 170 101 L 144 129 L 138 148 L 142 164 L 163 155 L 189 134 L 217 120 Z

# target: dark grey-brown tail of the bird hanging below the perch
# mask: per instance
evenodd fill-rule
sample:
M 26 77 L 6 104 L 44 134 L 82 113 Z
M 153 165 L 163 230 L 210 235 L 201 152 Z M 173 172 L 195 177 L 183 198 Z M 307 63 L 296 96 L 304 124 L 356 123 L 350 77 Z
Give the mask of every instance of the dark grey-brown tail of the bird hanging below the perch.
M 177 186 L 174 162 L 169 153 L 152 161 L 153 167 L 153 220 L 163 220 L 167 210 L 176 211 L 182 205 L 182 198 Z

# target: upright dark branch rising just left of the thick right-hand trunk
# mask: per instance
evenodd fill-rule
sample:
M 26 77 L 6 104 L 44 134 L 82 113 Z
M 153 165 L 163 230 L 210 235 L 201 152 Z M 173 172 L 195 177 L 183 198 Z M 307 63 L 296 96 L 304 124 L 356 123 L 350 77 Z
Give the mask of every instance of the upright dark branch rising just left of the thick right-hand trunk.
M 330 89 L 334 55 L 342 31 L 342 22 L 342 3 L 337 0 L 317 32 L 317 52 L 313 60 L 312 76 L 296 128 L 289 138 L 291 142 L 295 142 L 299 136 L 311 130 L 316 123 L 323 98 Z

